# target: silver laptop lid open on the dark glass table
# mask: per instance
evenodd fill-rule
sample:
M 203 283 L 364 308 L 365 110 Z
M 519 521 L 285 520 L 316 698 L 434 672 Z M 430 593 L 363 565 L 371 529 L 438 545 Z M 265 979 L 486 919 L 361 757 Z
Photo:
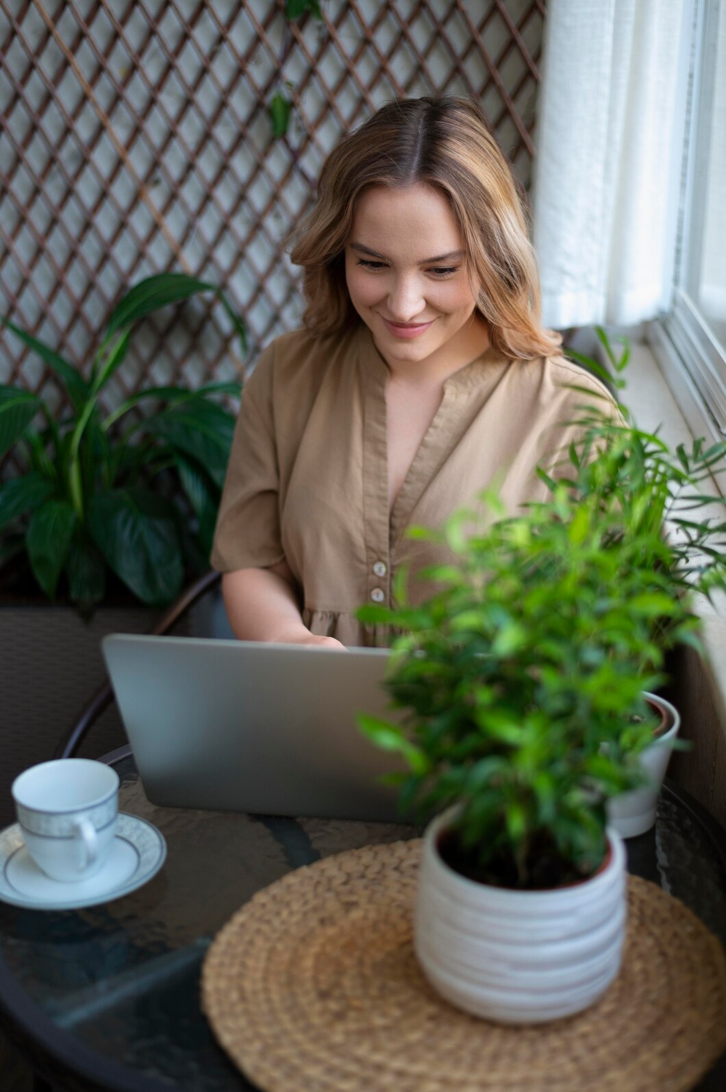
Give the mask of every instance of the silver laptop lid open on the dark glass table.
M 116 633 L 103 651 L 154 804 L 263 815 L 402 819 L 378 780 L 403 760 L 356 725 L 396 720 L 388 650 Z

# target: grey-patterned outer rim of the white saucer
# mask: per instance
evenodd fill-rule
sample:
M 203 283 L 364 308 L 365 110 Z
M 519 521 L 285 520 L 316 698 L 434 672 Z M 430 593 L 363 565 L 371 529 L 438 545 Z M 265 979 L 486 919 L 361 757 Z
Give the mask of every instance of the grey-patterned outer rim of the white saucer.
M 107 888 L 86 898 L 73 898 L 70 893 L 64 899 L 35 899 L 23 897 L 17 892 L 5 876 L 10 859 L 16 852 L 24 848 L 20 823 L 11 823 L 0 831 L 0 902 L 23 910 L 82 910 L 85 906 L 97 906 L 106 902 L 115 902 L 132 891 L 143 887 L 159 871 L 166 860 L 167 846 L 164 834 L 148 819 L 119 811 L 119 826 L 116 838 L 122 838 L 136 851 L 139 864 L 126 880 L 118 887 Z M 59 887 L 67 887 L 59 881 Z

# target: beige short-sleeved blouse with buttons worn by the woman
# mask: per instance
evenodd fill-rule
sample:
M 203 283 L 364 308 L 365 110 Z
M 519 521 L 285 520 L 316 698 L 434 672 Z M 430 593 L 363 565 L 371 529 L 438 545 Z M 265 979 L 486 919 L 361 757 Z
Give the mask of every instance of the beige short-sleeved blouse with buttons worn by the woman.
M 362 323 L 343 335 L 277 337 L 245 385 L 212 551 L 223 572 L 287 560 L 302 619 L 346 645 L 388 643 L 355 610 L 391 603 L 403 561 L 412 573 L 447 559 L 409 541 L 471 506 L 495 474 L 508 510 L 544 499 L 535 475 L 576 436 L 572 424 L 606 389 L 563 357 L 511 360 L 488 348 L 444 383 L 441 405 L 389 513 L 389 368 Z M 450 559 L 450 558 L 449 558 Z M 413 603 L 432 587 L 414 579 Z

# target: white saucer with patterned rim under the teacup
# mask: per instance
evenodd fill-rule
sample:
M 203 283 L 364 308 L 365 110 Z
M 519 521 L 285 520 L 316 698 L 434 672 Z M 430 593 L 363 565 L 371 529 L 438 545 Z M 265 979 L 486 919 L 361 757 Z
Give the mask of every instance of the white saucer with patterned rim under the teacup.
M 63 883 L 46 876 L 25 848 L 19 823 L 0 831 L 0 901 L 28 910 L 78 910 L 135 891 L 166 859 L 164 835 L 153 823 L 119 812 L 103 868 L 87 880 Z

